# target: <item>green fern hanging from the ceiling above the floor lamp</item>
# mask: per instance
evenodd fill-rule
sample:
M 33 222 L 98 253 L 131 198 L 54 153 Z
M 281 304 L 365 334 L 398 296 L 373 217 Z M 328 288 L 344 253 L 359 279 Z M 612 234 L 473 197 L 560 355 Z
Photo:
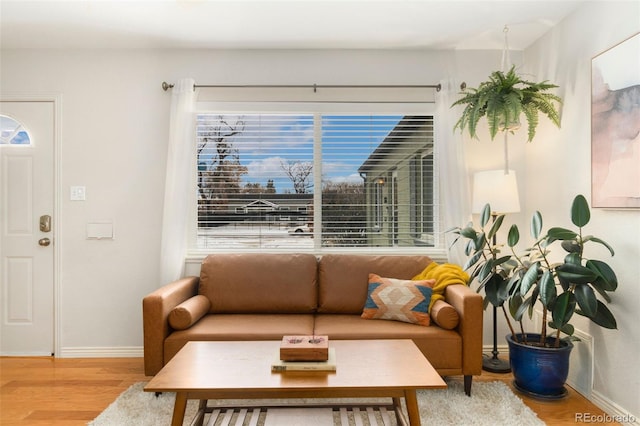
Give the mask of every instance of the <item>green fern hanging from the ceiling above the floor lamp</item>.
M 546 80 L 541 83 L 523 80 L 516 74 L 515 66 L 507 73 L 494 71 L 488 81 L 480 83 L 478 88 L 464 90 L 461 92 L 463 97 L 451 105 L 465 105 L 454 130 L 464 132 L 467 129 L 472 138 L 478 138 L 478 122 L 486 117 L 493 140 L 499 131 L 513 132 L 519 128 L 520 116 L 524 113 L 527 120 L 527 142 L 531 142 L 536 134 L 539 112 L 560 127 L 560 113 L 556 103 L 560 105 L 562 99 L 548 92 L 557 87 Z

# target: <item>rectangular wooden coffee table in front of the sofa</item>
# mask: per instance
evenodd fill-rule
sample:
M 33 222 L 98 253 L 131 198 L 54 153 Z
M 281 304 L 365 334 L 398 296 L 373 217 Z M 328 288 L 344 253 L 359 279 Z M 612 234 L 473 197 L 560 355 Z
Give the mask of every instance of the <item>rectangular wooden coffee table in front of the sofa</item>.
M 337 370 L 272 372 L 279 341 L 189 342 L 145 386 L 175 392 L 173 426 L 182 425 L 188 399 L 392 398 L 398 422 L 420 425 L 416 389 L 446 383 L 411 340 L 330 340 Z

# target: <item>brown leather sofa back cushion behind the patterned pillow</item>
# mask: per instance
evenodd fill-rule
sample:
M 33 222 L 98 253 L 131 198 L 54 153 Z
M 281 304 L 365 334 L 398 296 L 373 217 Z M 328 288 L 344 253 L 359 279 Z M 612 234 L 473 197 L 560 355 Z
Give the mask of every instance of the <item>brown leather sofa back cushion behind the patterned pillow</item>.
M 318 265 L 318 312 L 362 314 L 369 274 L 410 280 L 431 263 L 418 255 L 328 254 Z

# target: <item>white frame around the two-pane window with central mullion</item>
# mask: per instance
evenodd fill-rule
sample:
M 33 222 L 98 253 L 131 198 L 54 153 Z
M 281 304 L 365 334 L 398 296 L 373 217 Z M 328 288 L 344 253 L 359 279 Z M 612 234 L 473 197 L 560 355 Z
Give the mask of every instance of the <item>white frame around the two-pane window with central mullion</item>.
M 393 115 L 428 115 L 433 116 L 434 121 L 436 120 L 436 108 L 433 102 L 384 102 L 384 103 L 375 103 L 375 102 L 228 102 L 228 101 L 206 101 L 206 102 L 197 102 L 197 106 L 194 114 L 200 113 L 224 113 L 224 114 L 313 114 L 314 116 L 314 155 L 313 155 L 313 167 L 315 170 L 320 170 L 322 165 L 322 116 L 323 115 L 382 115 L 382 114 L 393 114 Z M 194 119 L 195 122 L 195 119 Z M 435 137 L 435 136 L 434 136 Z M 320 142 L 318 142 L 320 141 Z M 195 143 L 195 141 L 194 141 Z M 439 192 L 440 188 L 438 187 L 437 182 L 439 181 L 437 173 L 439 172 L 437 167 L 437 141 L 434 140 L 434 202 L 435 205 L 438 206 L 438 209 L 442 209 L 442 206 L 439 203 Z M 233 249 L 233 248 L 206 248 L 201 249 L 197 247 L 197 191 L 195 188 L 197 187 L 196 182 L 196 167 L 197 159 L 194 157 L 193 159 L 193 167 L 194 170 L 191 173 L 192 180 L 192 188 L 194 190 L 191 192 L 191 202 L 190 202 L 190 218 L 189 226 L 188 226 L 188 249 L 187 249 L 187 261 L 192 260 L 194 262 L 200 261 L 209 253 L 217 253 L 217 252 L 240 252 L 240 253 L 251 253 L 251 252 L 269 252 L 269 253 L 291 253 L 291 252 L 310 252 L 316 255 L 322 255 L 327 253 L 358 253 L 358 254 L 425 254 L 431 256 L 436 260 L 444 261 L 447 258 L 446 248 L 441 246 L 439 242 L 444 241 L 443 237 L 436 236 L 436 245 L 434 247 L 410 247 L 410 246 L 397 246 L 390 245 L 387 247 L 322 247 L 322 241 L 320 238 L 321 235 L 321 227 L 314 227 L 314 244 L 312 249 Z M 391 176 L 382 176 L 385 179 L 387 184 L 391 183 Z M 380 187 L 380 185 L 376 185 Z M 322 176 L 321 173 L 314 173 L 314 188 L 322 188 Z M 380 195 L 383 196 L 380 188 L 375 188 L 380 191 Z M 365 187 L 365 191 L 368 189 Z M 314 191 L 314 195 L 315 195 Z M 369 208 L 380 209 L 380 215 L 382 215 L 382 209 L 384 209 L 382 200 L 379 200 L 381 203 L 379 206 L 370 206 Z M 437 210 L 437 209 L 436 209 Z M 313 212 L 314 212 L 314 223 L 321 223 L 321 214 L 322 214 L 322 194 L 321 190 L 318 192 L 318 195 L 314 196 L 313 201 Z M 438 218 L 439 234 L 443 234 L 444 230 L 442 229 L 440 212 L 436 213 Z M 380 218 L 382 216 L 379 216 Z M 380 226 L 384 226 L 384 224 L 380 224 Z

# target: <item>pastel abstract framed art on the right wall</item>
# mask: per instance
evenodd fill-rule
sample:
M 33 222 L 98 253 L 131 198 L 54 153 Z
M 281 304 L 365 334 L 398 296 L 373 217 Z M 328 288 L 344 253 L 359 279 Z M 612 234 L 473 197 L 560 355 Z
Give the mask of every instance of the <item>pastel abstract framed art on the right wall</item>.
M 640 33 L 591 60 L 591 204 L 640 208 Z

